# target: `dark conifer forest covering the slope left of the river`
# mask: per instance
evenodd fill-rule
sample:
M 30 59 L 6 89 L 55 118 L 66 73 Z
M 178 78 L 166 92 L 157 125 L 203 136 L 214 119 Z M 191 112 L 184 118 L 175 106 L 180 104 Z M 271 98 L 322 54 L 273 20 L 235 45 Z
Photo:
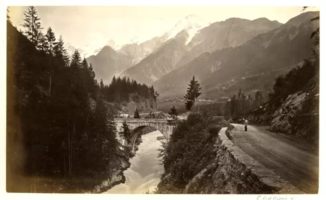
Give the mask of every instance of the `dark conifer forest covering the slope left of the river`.
M 42 34 L 35 7 L 24 12 L 24 31 L 8 12 L 7 191 L 78 192 L 110 179 L 124 152 L 107 101 L 153 96 L 153 87 L 125 77 L 98 84 L 77 50 L 69 58 L 62 36 L 50 27 Z

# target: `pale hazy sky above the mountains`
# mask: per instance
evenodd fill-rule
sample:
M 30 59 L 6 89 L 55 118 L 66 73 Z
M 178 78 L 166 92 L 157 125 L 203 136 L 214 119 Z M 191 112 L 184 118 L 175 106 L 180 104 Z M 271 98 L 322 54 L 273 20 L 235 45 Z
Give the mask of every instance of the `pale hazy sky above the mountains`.
M 10 7 L 11 21 L 18 28 L 27 7 Z M 56 36 L 76 47 L 92 43 L 126 43 L 135 36 L 140 40 L 169 31 L 176 22 L 195 14 L 206 22 L 223 21 L 231 17 L 257 19 L 266 17 L 286 23 L 301 14 L 302 7 L 145 7 L 145 6 L 43 6 L 37 7 L 44 30 L 51 26 Z M 309 8 L 307 11 L 319 10 Z M 103 44 L 103 45 L 104 45 Z

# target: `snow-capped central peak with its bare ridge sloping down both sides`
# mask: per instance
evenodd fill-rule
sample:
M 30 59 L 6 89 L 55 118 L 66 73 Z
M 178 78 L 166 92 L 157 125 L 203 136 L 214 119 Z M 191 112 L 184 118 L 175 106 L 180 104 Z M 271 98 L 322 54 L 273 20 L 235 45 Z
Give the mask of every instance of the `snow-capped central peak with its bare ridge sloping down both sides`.
M 231 18 L 202 27 L 198 20 L 194 20 L 194 16 L 186 19 L 186 23 L 180 21 L 176 25 L 178 28 L 175 30 L 181 31 L 174 38 L 169 37 L 171 39 L 162 44 L 159 50 L 153 52 L 139 64 L 128 68 L 121 75 L 129 76 L 146 84 L 152 84 L 152 82 L 191 62 L 204 52 L 222 49 L 223 46 L 239 46 L 259 34 L 282 25 L 266 18 L 253 21 Z M 183 28 L 179 28 L 179 26 Z M 173 31 L 176 32 L 175 30 Z

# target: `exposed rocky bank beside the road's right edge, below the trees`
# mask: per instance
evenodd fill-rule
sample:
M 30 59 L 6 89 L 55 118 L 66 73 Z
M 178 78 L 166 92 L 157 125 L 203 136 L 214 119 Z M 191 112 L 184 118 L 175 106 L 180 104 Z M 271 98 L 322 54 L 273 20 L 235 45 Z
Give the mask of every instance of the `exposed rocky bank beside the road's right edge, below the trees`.
M 253 124 L 267 125 L 271 131 L 303 137 L 319 144 L 319 73 L 302 90 L 289 94 L 276 111 L 266 104 L 250 113 Z

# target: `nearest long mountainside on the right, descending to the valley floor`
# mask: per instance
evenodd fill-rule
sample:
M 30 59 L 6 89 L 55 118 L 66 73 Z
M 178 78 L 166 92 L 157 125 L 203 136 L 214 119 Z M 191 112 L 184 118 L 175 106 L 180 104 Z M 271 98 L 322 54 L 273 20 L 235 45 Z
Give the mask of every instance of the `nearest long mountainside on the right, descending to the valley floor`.
M 317 25 L 310 20 L 316 16 L 319 16 L 319 12 L 302 13 L 241 46 L 225 48 L 223 52 L 217 50 L 203 53 L 192 62 L 166 74 L 153 85 L 161 97 L 183 94 L 189 79 L 195 75 L 205 94 L 225 87 L 224 84 L 232 79 L 242 80 L 274 71 L 287 72 L 301 63 L 303 58 L 309 57 L 312 47 L 310 35 Z M 269 78 L 276 78 L 278 73 L 273 73 Z M 256 80 L 260 81 L 261 78 Z M 264 87 L 270 88 L 273 82 L 266 84 Z M 214 94 L 218 95 L 219 92 Z M 223 95 L 223 91 L 220 94 Z

